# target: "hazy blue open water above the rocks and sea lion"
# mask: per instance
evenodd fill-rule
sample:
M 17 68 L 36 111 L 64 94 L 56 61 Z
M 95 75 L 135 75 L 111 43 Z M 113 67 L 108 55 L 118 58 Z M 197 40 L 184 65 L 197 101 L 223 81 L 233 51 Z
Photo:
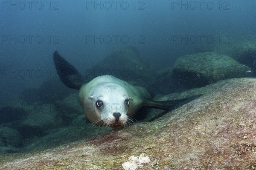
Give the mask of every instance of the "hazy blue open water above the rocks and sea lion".
M 162 69 L 201 46 L 254 37 L 255 4 L 254 0 L 2 0 L 1 102 L 57 77 L 55 50 L 85 72 L 112 50 L 133 45 L 154 68 Z

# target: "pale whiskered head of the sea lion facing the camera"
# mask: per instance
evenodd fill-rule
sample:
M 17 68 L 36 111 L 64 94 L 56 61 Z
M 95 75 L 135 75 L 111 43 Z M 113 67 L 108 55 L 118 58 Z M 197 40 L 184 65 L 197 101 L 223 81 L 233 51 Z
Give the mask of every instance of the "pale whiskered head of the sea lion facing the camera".
M 95 90 L 94 90 L 95 89 Z M 85 100 L 86 117 L 96 126 L 119 128 L 131 120 L 127 116 L 131 98 L 125 88 L 113 82 L 99 84 L 92 89 L 92 95 Z

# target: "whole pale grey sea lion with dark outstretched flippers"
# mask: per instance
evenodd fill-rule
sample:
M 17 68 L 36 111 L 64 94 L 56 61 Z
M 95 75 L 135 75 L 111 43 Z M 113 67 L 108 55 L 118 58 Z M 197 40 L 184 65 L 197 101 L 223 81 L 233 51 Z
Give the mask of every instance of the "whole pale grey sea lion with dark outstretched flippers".
M 75 67 L 54 52 L 53 60 L 61 81 L 68 87 L 79 89 L 79 104 L 87 119 L 96 126 L 119 128 L 129 124 L 140 109 L 170 110 L 194 98 L 175 101 L 153 101 L 146 89 L 132 86 L 111 75 L 103 75 L 88 82 Z

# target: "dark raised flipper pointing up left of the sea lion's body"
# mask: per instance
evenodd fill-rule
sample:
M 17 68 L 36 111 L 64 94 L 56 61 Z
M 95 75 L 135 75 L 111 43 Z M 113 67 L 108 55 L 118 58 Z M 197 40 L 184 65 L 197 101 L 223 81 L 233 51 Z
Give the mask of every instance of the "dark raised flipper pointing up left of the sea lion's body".
M 73 89 L 80 89 L 86 82 L 84 76 L 82 76 L 74 66 L 62 58 L 57 51 L 53 53 L 53 61 L 61 81 L 66 86 Z

